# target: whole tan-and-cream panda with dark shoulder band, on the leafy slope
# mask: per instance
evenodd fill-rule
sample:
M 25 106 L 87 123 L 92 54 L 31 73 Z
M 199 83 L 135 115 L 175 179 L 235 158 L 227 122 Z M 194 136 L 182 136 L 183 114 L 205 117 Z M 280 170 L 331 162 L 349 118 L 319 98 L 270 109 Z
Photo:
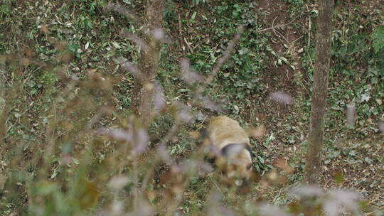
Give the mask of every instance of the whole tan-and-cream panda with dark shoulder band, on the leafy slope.
M 249 180 L 252 175 L 252 150 L 247 133 L 238 121 L 226 116 L 210 119 L 206 131 L 215 150 L 215 164 L 236 185 Z

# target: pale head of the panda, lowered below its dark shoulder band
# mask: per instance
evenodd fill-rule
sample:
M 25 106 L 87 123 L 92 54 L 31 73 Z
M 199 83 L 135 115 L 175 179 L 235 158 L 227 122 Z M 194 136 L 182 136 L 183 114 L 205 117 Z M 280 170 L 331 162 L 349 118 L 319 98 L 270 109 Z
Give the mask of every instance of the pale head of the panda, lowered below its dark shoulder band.
M 237 185 L 252 175 L 252 153 L 245 144 L 228 144 L 220 149 L 217 165 L 227 175 L 234 178 Z

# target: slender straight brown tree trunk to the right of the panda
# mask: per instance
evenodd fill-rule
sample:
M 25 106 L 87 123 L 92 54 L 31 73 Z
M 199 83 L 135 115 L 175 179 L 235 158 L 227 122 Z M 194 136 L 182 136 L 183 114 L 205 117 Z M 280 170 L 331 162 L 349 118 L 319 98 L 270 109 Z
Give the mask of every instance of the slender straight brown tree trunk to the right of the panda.
M 324 142 L 324 113 L 331 58 L 331 23 L 334 0 L 320 1 L 316 29 L 316 62 L 311 104 L 311 131 L 306 151 L 305 183 L 318 183 L 321 174 L 321 148 Z

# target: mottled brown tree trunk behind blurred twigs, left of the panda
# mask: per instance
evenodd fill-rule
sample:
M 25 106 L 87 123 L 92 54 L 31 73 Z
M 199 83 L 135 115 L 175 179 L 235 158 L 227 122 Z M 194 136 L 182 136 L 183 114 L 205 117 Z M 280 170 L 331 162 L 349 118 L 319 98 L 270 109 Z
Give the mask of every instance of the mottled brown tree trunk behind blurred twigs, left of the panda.
M 153 36 L 151 31 L 161 28 L 163 23 L 164 0 L 148 0 L 145 8 L 145 33 L 144 39 L 148 45 L 142 48 L 137 67 L 142 72 L 139 77 L 134 78 L 134 89 L 132 91 L 132 112 L 142 120 L 144 126 L 151 121 L 154 97 L 154 82 L 157 75 L 157 65 L 161 44 Z

